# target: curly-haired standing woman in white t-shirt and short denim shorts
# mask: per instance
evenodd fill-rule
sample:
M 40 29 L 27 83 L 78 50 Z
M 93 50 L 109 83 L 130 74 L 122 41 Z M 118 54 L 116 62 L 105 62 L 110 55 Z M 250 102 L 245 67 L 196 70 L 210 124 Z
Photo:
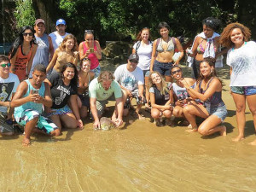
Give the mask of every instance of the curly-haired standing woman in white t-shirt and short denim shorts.
M 249 41 L 251 31 L 241 23 L 231 23 L 221 33 L 220 43 L 229 48 L 227 64 L 230 66 L 230 90 L 236 103 L 236 122 L 239 142 L 244 139 L 246 102 L 253 114 L 256 129 L 256 43 Z M 250 143 L 256 145 L 256 139 Z

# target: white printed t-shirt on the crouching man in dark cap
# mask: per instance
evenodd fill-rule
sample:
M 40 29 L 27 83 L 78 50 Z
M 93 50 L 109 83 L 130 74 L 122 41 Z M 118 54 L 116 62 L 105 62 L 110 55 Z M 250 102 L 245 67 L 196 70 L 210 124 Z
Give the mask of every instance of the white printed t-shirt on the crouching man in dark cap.
M 139 84 L 144 84 L 143 70 L 139 67 L 133 72 L 127 70 L 127 64 L 123 64 L 113 73 L 115 80 L 128 90 L 137 90 Z

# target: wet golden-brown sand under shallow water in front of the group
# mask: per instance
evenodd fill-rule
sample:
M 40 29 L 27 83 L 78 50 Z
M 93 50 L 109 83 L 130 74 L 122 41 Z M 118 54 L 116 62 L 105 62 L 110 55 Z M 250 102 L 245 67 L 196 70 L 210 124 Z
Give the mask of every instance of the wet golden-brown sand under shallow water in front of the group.
M 255 191 L 256 147 L 247 144 L 256 138 L 253 118 L 247 108 L 246 139 L 232 142 L 238 131 L 228 67 L 219 73 L 226 137 L 156 127 L 144 110 L 145 120 L 129 116 L 123 130 L 93 131 L 85 119 L 83 131 L 35 135 L 28 148 L 22 136 L 0 137 L 0 191 Z

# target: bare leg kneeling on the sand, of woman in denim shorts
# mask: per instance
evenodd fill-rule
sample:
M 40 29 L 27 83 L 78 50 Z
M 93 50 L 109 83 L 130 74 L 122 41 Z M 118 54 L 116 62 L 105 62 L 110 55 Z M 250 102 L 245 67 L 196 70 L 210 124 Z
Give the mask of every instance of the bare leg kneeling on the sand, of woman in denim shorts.
M 212 135 L 215 132 L 219 132 L 221 136 L 226 136 L 226 127 L 224 125 L 219 125 L 221 119 L 216 115 L 209 116 L 198 128 L 198 132 L 203 136 Z

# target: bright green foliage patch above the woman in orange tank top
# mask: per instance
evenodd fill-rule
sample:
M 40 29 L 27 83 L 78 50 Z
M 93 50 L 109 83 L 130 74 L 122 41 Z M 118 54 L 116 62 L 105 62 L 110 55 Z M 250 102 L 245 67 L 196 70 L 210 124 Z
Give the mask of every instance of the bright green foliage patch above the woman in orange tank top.
M 33 26 L 36 17 L 32 8 L 32 0 L 17 0 L 14 15 L 18 28 L 22 26 Z

